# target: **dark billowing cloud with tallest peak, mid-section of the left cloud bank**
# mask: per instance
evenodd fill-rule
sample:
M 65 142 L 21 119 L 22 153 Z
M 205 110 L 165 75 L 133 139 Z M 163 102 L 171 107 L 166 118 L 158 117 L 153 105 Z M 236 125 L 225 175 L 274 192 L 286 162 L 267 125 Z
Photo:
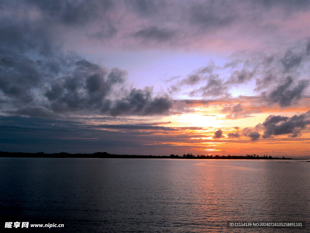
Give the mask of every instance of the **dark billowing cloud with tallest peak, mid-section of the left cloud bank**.
M 51 109 L 54 112 L 106 109 L 109 105 L 106 97 L 115 83 L 105 77 L 106 71 L 85 59 L 68 68 L 74 68 L 73 74 L 52 81 L 45 93 Z M 115 71 L 109 75 L 113 76 L 113 73 Z

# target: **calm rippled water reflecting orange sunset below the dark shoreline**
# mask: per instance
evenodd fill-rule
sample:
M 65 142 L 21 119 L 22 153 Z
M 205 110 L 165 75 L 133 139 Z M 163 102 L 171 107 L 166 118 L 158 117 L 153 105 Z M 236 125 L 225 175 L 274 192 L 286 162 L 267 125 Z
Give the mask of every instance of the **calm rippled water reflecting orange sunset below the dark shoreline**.
M 0 158 L 0 185 L 1 232 L 310 232 L 310 163 L 296 160 Z

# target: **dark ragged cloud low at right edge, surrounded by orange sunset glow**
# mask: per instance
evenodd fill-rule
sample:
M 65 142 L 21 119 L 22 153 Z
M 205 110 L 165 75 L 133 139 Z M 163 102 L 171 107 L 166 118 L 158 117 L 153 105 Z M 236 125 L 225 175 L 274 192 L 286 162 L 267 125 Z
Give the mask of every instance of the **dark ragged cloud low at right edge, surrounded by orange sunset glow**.
M 290 137 L 297 137 L 300 131 L 310 124 L 310 111 L 293 117 L 282 117 L 270 115 L 259 125 L 263 127 L 263 138 L 270 138 L 272 135 L 290 134 Z

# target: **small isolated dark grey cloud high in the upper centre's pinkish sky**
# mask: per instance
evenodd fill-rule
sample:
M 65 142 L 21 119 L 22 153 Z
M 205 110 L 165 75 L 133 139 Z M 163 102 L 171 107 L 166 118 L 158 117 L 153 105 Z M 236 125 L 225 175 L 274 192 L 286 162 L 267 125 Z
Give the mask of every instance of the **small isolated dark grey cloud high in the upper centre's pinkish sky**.
M 174 31 L 168 29 L 159 29 L 158 27 L 149 27 L 135 32 L 133 35 L 136 38 L 153 39 L 157 41 L 166 41 L 173 37 Z

